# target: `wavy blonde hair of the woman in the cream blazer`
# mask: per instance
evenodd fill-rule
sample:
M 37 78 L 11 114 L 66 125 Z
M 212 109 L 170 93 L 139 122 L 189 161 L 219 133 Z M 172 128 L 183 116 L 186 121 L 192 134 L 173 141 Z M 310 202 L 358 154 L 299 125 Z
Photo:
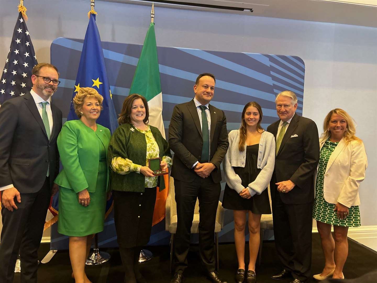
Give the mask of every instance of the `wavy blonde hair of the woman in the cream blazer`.
M 340 109 L 340 108 L 335 108 L 335 109 L 331 110 L 326 115 L 325 120 L 323 121 L 323 133 L 321 135 L 321 140 L 322 139 L 327 140 L 327 138 L 331 135 L 331 132 L 328 129 L 328 125 L 330 123 L 331 116 L 334 113 L 342 116 L 347 122 L 347 129 L 343 134 L 343 138 L 344 138 L 346 144 L 348 145 L 348 143 L 351 140 L 356 140 L 356 141 L 360 142 L 361 141 L 360 138 L 356 137 L 356 135 L 355 135 L 356 134 L 356 126 L 354 124 L 353 119 L 351 118 L 351 116 L 346 111 L 344 111 L 343 109 Z

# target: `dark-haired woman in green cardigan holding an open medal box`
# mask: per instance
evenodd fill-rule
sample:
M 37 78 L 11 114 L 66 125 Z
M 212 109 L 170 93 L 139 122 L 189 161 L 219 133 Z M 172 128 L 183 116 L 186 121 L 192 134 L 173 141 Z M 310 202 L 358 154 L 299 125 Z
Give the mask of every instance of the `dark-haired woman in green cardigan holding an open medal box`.
M 147 282 L 138 271 L 138 259 L 141 247 L 150 238 L 156 186 L 165 188 L 164 178 L 153 175 L 148 160 L 161 158 L 162 170 L 172 165 L 167 141 L 158 128 L 148 125 L 148 119 L 147 100 L 138 94 L 129 95 L 107 152 L 113 171 L 110 184 L 115 228 L 127 283 Z

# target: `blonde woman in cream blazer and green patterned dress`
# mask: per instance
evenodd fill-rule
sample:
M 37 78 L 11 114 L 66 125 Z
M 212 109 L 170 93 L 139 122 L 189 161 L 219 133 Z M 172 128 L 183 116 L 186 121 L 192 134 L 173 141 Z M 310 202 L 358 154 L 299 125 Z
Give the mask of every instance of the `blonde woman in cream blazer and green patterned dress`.
M 342 109 L 331 110 L 323 122 L 316 176 L 313 218 L 321 237 L 325 267 L 313 275 L 323 280 L 344 278 L 348 255 L 348 227 L 360 226 L 359 186 L 368 166 L 362 140 L 355 136 L 352 118 Z M 334 226 L 334 238 L 331 234 Z

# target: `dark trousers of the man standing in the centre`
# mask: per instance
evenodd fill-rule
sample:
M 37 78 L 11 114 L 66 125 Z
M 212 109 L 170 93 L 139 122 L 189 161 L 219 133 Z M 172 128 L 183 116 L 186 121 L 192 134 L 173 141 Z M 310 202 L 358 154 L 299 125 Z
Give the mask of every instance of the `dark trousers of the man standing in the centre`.
M 197 177 L 187 183 L 174 180 L 177 203 L 177 231 L 175 235 L 175 272 L 183 273 L 187 267 L 190 248 L 190 231 L 194 217 L 196 198 L 199 199 L 199 249 L 203 266 L 215 271 L 215 221 L 221 192 L 220 183 L 211 177 Z

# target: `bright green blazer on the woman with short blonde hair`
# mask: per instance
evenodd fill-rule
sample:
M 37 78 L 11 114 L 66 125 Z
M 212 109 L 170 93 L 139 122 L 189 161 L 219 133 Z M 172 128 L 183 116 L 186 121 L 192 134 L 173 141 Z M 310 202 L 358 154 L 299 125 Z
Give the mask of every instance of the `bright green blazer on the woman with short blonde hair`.
M 95 192 L 100 162 L 98 138 L 107 152 L 110 137 L 110 130 L 98 124 L 97 131 L 93 131 L 81 120 L 64 123 L 57 140 L 63 170 L 56 177 L 55 183 L 76 193 L 83 189 Z M 107 168 L 108 189 L 109 169 Z

